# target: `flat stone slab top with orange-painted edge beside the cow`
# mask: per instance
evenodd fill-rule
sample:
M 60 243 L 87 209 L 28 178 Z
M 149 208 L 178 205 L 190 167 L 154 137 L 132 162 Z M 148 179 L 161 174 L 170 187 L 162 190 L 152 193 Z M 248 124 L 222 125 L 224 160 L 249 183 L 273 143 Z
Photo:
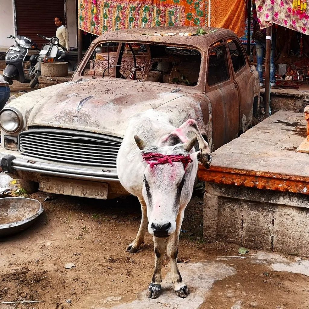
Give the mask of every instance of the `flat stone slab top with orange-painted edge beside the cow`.
M 303 113 L 278 111 L 212 153 L 200 180 L 309 194 L 309 155 L 297 152 L 306 137 Z

